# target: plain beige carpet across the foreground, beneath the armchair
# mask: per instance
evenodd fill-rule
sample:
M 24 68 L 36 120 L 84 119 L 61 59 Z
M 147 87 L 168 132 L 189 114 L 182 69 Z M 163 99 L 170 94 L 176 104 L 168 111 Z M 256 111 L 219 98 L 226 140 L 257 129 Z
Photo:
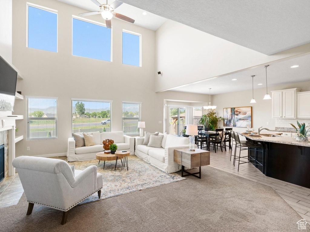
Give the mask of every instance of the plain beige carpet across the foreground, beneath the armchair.
M 301 217 L 268 186 L 208 167 L 185 180 L 78 205 L 62 212 L 23 195 L 0 209 L 0 231 L 299 231 Z

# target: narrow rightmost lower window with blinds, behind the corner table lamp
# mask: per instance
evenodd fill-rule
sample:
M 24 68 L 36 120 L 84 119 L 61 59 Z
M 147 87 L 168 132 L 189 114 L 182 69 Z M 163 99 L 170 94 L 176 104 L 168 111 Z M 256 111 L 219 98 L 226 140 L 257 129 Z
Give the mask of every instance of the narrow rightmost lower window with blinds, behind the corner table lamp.
M 138 135 L 138 122 L 141 121 L 142 102 L 123 101 L 122 123 L 125 135 Z

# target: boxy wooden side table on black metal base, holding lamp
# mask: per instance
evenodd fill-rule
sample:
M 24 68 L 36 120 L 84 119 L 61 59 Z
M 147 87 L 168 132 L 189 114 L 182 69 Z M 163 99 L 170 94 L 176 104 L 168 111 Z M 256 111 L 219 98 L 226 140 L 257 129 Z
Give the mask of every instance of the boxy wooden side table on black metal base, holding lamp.
M 182 177 L 193 175 L 197 178 L 201 178 L 201 166 L 210 164 L 210 152 L 201 149 L 195 149 L 195 151 L 189 151 L 188 148 L 175 149 L 174 161 L 182 165 Z M 188 168 L 199 167 L 199 172 L 190 173 L 184 170 L 184 166 Z M 183 172 L 187 174 L 184 175 Z M 195 174 L 199 174 L 199 176 Z

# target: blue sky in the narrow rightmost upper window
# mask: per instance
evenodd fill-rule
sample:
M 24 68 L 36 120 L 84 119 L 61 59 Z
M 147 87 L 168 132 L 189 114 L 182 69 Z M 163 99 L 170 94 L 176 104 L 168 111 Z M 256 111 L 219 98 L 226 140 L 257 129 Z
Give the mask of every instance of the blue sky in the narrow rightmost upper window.
M 123 32 L 123 64 L 140 66 L 140 36 Z

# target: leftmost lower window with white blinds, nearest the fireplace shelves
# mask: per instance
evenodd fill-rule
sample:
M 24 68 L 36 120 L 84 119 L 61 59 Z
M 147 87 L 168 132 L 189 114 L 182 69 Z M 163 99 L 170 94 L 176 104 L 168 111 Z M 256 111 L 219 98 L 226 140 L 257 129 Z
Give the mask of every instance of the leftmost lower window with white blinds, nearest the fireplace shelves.
M 57 139 L 57 97 L 27 100 L 27 140 Z

